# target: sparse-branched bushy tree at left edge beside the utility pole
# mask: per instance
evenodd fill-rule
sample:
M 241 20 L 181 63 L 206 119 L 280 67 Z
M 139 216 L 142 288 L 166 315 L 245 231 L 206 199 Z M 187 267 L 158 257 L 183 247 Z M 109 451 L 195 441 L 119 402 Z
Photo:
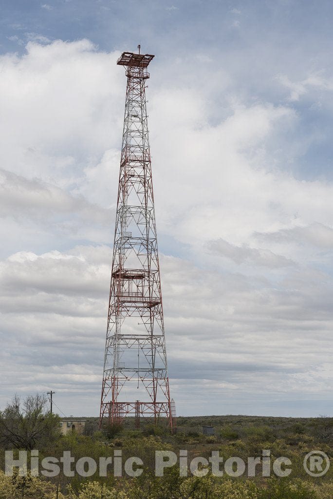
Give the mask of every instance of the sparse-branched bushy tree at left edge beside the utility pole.
M 36 394 L 21 402 L 15 395 L 0 412 L 2 446 L 31 451 L 53 442 L 60 435 L 60 419 L 46 412 L 47 398 Z

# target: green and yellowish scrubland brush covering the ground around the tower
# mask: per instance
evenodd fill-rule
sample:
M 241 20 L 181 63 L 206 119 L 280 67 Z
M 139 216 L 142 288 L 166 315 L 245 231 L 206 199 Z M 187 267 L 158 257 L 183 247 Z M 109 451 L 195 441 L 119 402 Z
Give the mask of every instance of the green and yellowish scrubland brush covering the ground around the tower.
M 17 409 L 18 407 L 18 409 Z M 71 433 L 60 435 L 59 419 L 43 413 L 4 411 L 0 415 L 1 469 L 4 470 L 4 450 L 31 449 L 31 432 L 34 433 L 33 448 L 39 450 L 39 460 L 53 456 L 60 458 L 64 451 L 71 451 L 77 461 L 81 457 L 93 458 L 114 456 L 122 451 L 123 462 L 129 457 L 142 459 L 144 471 L 140 477 L 131 478 L 123 474 L 115 477 L 112 467 L 107 477 L 98 472 L 91 477 L 66 477 L 63 471 L 54 478 L 12 477 L 0 472 L 0 499 L 332 499 L 332 466 L 323 477 L 307 475 L 303 460 L 313 450 L 325 452 L 332 461 L 333 418 L 309 419 L 263 418 L 247 416 L 179 417 L 177 430 L 171 435 L 162 425 L 155 427 L 145 422 L 140 429 L 134 428 L 129 418 L 124 426 L 115 426 L 109 431 L 98 430 L 97 418 L 87 418 L 84 435 Z M 29 409 L 30 408 L 30 409 Z M 11 408 L 12 409 L 12 408 Z M 30 413 L 29 413 L 30 410 Z M 10 416 L 10 417 L 9 417 Z M 10 420 L 11 418 L 11 420 Z M 213 436 L 202 434 L 202 425 L 214 427 Z M 22 434 L 19 439 L 12 434 Z M 258 467 L 255 477 L 231 478 L 226 473 L 214 477 L 208 467 L 203 477 L 179 477 L 177 465 L 166 469 L 164 477 L 155 476 L 155 451 L 186 450 L 188 462 L 195 457 L 208 459 L 212 451 L 219 451 L 224 462 L 229 457 L 240 457 L 247 463 L 248 457 L 262 456 L 263 449 L 271 451 L 272 462 L 278 457 L 287 457 L 292 465 L 288 477 L 263 477 Z M 29 468 L 29 464 L 28 464 Z M 204 468 L 204 467 L 203 467 Z

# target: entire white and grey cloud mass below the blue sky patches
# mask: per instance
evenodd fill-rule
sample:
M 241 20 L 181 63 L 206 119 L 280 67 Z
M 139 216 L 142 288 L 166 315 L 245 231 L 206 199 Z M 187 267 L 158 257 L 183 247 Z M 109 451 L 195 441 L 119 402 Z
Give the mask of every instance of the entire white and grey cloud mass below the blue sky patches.
M 57 40 L 0 57 L 1 404 L 52 383 L 65 412 L 82 414 L 83 403 L 98 412 L 125 90 L 118 55 Z M 326 400 L 332 183 L 286 172 L 279 147 L 299 120 L 290 103 L 236 99 L 226 71 L 189 88 L 171 69 L 172 82 L 157 66 L 148 107 L 178 410 L 269 414 L 315 387 Z

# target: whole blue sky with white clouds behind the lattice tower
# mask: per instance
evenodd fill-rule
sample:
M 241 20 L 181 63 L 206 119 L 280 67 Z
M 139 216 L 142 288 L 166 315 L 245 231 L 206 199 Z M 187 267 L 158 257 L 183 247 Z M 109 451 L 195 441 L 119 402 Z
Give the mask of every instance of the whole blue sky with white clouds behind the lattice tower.
M 47 1 L 47 0 L 45 0 Z M 331 1 L 2 0 L 0 408 L 97 416 L 125 103 L 148 113 L 178 415 L 331 415 Z

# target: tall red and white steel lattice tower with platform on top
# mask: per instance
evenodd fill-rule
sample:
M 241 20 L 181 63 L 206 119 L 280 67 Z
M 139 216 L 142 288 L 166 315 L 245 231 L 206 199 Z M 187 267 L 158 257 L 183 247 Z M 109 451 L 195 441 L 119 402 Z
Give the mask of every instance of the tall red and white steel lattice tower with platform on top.
M 100 426 L 129 414 L 174 426 L 155 223 L 145 84 L 154 55 L 123 52 L 127 88 Z

